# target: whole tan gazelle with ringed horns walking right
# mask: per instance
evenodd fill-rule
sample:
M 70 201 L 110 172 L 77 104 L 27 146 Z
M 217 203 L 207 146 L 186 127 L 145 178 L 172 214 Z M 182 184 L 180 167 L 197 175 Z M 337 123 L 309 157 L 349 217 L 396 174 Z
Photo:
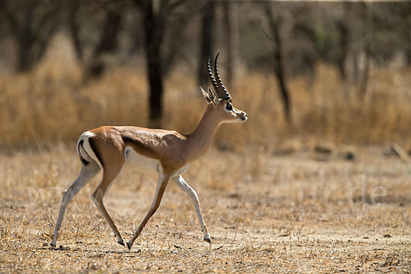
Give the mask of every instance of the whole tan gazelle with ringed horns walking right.
M 219 58 L 219 53 L 214 60 L 214 75 L 210 66 L 210 57 L 208 58 L 207 68 L 211 87 L 208 87 L 207 92 L 201 88 L 208 107 L 199 125 L 191 134 L 142 127 L 105 126 L 84 132 L 80 136 L 77 142 L 77 152 L 82 162 L 82 170 L 73 184 L 63 192 L 60 212 L 50 244 L 52 247 L 56 245 L 64 213 L 71 199 L 101 169 L 103 177 L 92 193 L 91 199 L 114 232 L 117 242 L 124 246 L 119 229 L 114 225 L 103 204 L 105 193 L 123 167 L 142 173 L 158 173 L 158 184 L 153 203 L 132 238 L 127 241 L 128 249 L 132 248 L 134 240 L 140 235 L 147 221 L 160 206 L 164 190 L 170 180 L 190 195 L 201 230 L 204 233 L 203 240 L 211 242 L 210 234 L 208 234 L 206 223 L 204 223 L 201 214 L 197 193 L 184 181 L 182 174 L 188 170 L 192 162 L 206 153 L 216 129 L 221 123 L 238 123 L 247 120 L 247 114 L 237 110 L 232 105 L 232 99 L 217 71 L 217 58 Z

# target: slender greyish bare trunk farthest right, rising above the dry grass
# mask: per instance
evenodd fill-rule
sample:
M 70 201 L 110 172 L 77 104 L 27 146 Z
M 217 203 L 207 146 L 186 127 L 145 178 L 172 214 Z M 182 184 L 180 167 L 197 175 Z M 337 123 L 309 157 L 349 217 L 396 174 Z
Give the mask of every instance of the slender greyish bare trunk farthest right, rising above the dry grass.
M 371 40 L 373 36 L 373 26 L 371 17 L 371 4 L 362 3 L 362 5 L 364 9 L 364 69 L 362 71 L 358 93 L 360 97 L 364 99 L 370 73 Z

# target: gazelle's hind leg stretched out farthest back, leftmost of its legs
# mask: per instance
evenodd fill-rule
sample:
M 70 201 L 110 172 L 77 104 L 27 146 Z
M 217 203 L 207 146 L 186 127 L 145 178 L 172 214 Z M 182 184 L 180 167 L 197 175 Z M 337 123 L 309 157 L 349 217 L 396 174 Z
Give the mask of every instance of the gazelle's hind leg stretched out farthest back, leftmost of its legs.
M 69 188 L 64 190 L 62 203 L 60 204 L 60 211 L 58 212 L 57 223 L 55 223 L 55 229 L 53 232 L 53 240 L 50 243 L 52 247 L 55 247 L 56 245 L 58 232 L 62 226 L 64 214 L 66 213 L 66 208 L 69 206 L 71 199 L 73 199 L 73 197 L 88 183 L 88 181 L 90 181 L 90 179 L 92 179 L 92 177 L 95 177 L 99 171 L 100 166 L 96 162 L 90 162 L 87 165 L 82 165 L 82 171 L 80 171 L 77 179 L 75 179 Z

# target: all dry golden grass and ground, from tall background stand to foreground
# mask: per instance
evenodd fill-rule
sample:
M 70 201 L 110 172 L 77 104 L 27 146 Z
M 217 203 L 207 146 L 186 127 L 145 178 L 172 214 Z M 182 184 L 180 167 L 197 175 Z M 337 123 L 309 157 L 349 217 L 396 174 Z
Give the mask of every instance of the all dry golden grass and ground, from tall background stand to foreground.
M 411 71 L 373 70 L 360 102 L 334 69 L 320 65 L 311 86 L 290 81 L 292 125 L 272 75 L 238 75 L 229 90 L 249 121 L 223 125 L 215 146 L 185 175 L 213 244 L 201 240 L 190 199 L 170 185 L 129 252 L 88 198 L 98 178 L 69 206 L 62 247 L 49 242 L 61 192 L 79 171 L 79 134 L 147 125 L 144 74 L 117 68 L 84 83 L 81 68 L 61 64 L 49 60 L 0 79 L 1 273 L 411 271 L 411 169 L 381 148 L 407 145 Z M 165 128 L 190 132 L 206 108 L 190 75 L 166 79 Z M 310 151 L 322 143 L 334 145 L 331 156 Z M 353 162 L 340 158 L 347 144 Z M 145 216 L 155 182 L 124 171 L 106 196 L 125 239 Z

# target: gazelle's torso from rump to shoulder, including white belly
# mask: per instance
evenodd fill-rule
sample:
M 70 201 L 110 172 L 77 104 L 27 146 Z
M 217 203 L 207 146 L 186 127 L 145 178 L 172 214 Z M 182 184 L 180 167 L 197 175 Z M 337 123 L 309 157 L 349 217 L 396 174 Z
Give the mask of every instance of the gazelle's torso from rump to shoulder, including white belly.
M 104 155 L 97 155 L 103 168 L 104 162 L 109 158 L 111 162 L 113 157 L 125 162 L 127 169 L 145 173 L 155 173 L 161 168 L 174 171 L 185 165 L 180 153 L 184 151 L 186 137 L 177 132 L 112 126 L 98 127 L 89 132 L 88 142 L 92 151 L 105 151 Z

